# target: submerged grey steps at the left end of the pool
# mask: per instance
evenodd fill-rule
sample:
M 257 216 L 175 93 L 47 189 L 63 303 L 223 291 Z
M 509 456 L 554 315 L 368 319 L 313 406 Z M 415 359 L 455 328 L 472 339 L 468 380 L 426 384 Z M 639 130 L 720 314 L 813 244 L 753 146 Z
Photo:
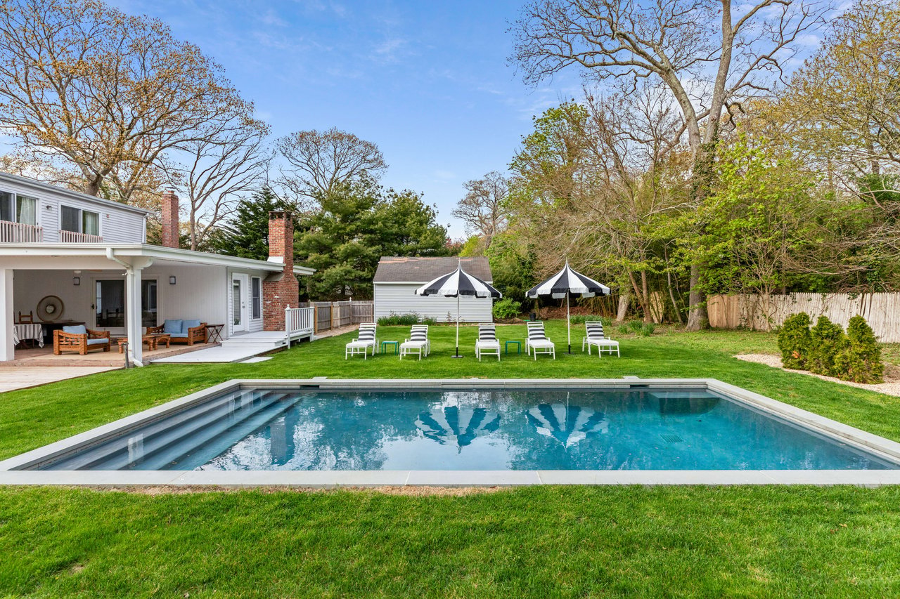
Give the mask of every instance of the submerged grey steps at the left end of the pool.
M 216 401 L 204 402 L 200 406 L 188 408 L 145 426 L 135 434 L 101 443 L 93 450 L 70 459 L 59 460 L 51 469 L 127 469 L 132 461 L 138 458 L 146 460 L 154 452 L 198 431 L 211 427 L 218 433 L 227 429 L 260 409 L 280 402 L 287 395 L 284 392 L 268 391 L 262 394 L 224 396 Z M 138 469 L 148 468 L 140 464 Z

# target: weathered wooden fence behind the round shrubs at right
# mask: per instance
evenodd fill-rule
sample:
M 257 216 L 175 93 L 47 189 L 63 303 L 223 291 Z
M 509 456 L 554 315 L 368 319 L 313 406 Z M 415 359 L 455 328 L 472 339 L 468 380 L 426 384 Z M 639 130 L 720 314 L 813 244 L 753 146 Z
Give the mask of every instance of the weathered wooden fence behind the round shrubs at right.
M 806 312 L 847 328 L 851 317 L 866 319 L 878 340 L 900 343 L 900 293 L 788 293 L 786 295 L 713 295 L 707 299 L 709 326 L 770 331 L 785 318 Z

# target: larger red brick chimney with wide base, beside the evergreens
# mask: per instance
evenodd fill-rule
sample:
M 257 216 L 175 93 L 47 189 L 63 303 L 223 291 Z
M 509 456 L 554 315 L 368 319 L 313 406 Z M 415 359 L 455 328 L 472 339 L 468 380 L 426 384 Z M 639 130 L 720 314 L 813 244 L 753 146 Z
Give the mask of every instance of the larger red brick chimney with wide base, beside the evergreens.
M 297 308 L 300 283 L 293 274 L 293 219 L 290 212 L 269 212 L 269 262 L 284 264 L 280 277 L 263 282 L 263 328 L 284 331 L 284 308 Z M 277 279 L 277 280 L 275 280 Z

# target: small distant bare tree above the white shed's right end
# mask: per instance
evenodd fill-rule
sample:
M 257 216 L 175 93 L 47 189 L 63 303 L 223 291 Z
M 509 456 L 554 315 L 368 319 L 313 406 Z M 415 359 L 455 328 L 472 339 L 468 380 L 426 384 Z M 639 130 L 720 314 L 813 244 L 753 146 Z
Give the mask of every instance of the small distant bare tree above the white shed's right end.
M 509 194 L 509 179 L 497 171 L 485 174 L 482 179 L 463 183 L 465 197 L 452 214 L 465 223 L 470 233 L 482 237 L 485 250 L 491 247 L 494 235 L 506 227 L 507 212 L 503 201 Z

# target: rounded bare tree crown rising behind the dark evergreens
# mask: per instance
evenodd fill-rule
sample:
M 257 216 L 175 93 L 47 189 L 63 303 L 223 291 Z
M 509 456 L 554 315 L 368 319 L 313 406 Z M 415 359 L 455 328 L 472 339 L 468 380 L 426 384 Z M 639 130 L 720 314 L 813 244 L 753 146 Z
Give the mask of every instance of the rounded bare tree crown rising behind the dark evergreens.
M 275 148 L 288 163 L 280 183 L 297 197 L 314 199 L 363 175 L 377 180 L 388 166 L 373 142 L 337 128 L 297 131 Z

